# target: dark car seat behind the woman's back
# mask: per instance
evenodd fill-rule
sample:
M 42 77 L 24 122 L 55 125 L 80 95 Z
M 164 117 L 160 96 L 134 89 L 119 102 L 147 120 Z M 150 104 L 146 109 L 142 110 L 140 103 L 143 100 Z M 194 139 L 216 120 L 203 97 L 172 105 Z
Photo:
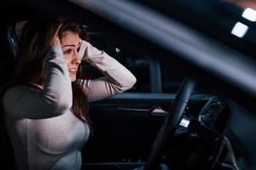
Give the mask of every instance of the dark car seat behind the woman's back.
M 19 39 L 15 33 L 15 25 L 2 26 L 0 29 L 0 88 L 9 80 L 15 66 L 15 59 L 19 48 Z M 1 113 L 2 114 L 2 113 Z M 13 148 L 3 126 L 3 117 L 0 120 L 0 156 L 1 166 L 16 169 Z

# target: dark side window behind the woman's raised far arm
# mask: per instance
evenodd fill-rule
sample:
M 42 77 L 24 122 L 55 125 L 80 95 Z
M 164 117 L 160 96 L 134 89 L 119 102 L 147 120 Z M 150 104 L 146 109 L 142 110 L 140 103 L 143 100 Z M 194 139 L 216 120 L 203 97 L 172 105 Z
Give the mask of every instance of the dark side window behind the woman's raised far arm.
M 154 55 L 143 54 L 135 56 L 127 48 L 119 45 L 119 42 L 106 39 L 101 33 L 89 31 L 90 42 L 97 48 L 104 50 L 106 53 L 117 59 L 135 77 L 137 83 L 126 93 L 176 93 L 177 88 L 183 80 L 179 74 L 179 65 L 167 65 L 158 59 L 154 59 Z M 172 58 L 172 56 L 171 56 Z M 82 64 L 84 69 L 84 78 L 102 77 L 96 68 L 86 64 Z

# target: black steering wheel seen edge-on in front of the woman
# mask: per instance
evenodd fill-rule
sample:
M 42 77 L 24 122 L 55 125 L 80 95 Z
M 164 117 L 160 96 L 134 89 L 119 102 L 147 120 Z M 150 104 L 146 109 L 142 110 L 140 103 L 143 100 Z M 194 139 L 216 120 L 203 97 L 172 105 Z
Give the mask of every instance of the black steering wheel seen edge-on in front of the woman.
M 178 88 L 177 94 L 172 101 L 165 122 L 154 140 L 150 155 L 143 170 L 155 170 L 160 168 L 162 153 L 174 136 L 177 126 L 182 121 L 183 113 L 188 105 L 190 95 L 195 88 L 195 82 L 189 77 L 185 77 L 182 85 Z M 141 168 L 140 168 L 141 169 Z

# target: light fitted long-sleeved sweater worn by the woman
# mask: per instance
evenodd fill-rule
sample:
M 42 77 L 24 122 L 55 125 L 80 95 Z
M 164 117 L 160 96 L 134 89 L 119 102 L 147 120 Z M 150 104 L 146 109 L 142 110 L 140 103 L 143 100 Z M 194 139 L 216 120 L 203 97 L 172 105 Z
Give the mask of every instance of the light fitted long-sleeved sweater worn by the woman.
M 79 55 L 105 77 L 79 80 L 89 101 L 105 99 L 131 88 L 136 78 L 108 54 L 82 42 Z M 61 47 L 44 58 L 43 92 L 25 86 L 9 88 L 3 97 L 5 125 L 18 169 L 80 169 L 81 150 L 90 129 L 70 111 L 73 97 Z

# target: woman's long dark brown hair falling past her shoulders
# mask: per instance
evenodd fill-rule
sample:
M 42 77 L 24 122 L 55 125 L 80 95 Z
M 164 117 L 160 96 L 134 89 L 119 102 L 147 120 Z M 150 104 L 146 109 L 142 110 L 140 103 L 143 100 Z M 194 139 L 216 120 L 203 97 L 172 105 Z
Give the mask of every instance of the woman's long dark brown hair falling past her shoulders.
M 84 26 L 73 21 L 55 19 L 27 21 L 20 37 L 20 47 L 17 54 L 15 71 L 9 80 L 9 83 L 0 94 L 1 100 L 3 99 L 3 94 L 6 90 L 15 85 L 28 83 L 38 85 L 44 84 L 45 75 L 42 62 L 49 50 L 49 43 L 59 26 L 61 26 L 59 30 L 60 39 L 65 31 L 73 31 L 74 33 L 78 33 L 81 39 L 89 41 Z M 79 71 L 81 71 L 81 68 Z M 79 71 L 78 75 L 80 74 Z M 71 110 L 74 116 L 77 116 L 81 121 L 90 124 L 87 95 L 77 81 L 72 82 L 72 90 L 73 106 Z M 1 105 L 3 111 L 3 100 L 1 101 Z

